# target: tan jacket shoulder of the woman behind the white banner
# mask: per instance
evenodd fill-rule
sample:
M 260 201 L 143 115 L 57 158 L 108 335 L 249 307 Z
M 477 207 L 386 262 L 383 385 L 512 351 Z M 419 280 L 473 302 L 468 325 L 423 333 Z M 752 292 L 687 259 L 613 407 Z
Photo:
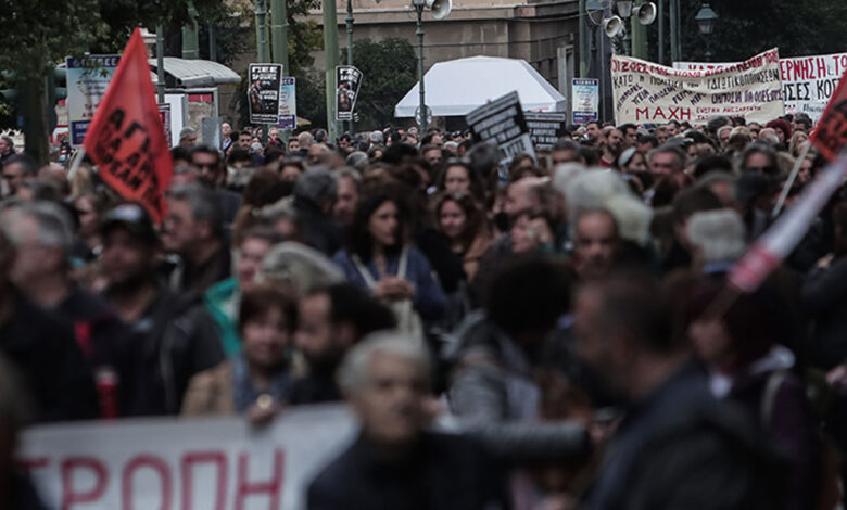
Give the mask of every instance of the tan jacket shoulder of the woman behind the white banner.
M 180 415 L 184 417 L 236 415 L 231 361 L 224 361 L 191 378 L 186 397 L 182 399 Z

